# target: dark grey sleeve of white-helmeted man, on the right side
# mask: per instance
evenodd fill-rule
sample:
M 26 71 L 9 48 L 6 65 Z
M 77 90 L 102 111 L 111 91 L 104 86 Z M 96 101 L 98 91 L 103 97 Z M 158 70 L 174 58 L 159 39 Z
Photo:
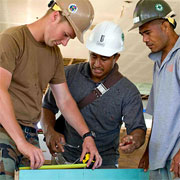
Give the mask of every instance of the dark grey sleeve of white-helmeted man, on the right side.
M 123 102 L 123 122 L 127 130 L 127 134 L 130 134 L 137 128 L 146 131 L 146 124 L 143 115 L 143 105 L 139 91 L 133 90 L 127 93 Z

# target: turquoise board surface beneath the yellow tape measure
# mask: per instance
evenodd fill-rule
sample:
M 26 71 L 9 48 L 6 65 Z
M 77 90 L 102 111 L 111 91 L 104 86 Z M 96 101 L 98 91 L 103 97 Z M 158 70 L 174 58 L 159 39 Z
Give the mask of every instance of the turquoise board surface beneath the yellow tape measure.
M 19 180 L 148 180 L 143 169 L 20 170 Z

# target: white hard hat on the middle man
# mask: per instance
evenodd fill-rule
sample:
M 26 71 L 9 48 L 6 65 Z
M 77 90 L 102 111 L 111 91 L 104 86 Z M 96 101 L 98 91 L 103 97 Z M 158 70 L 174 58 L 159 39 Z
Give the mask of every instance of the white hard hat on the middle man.
M 104 21 L 92 30 L 86 47 L 96 54 L 110 57 L 124 49 L 124 33 L 118 24 Z

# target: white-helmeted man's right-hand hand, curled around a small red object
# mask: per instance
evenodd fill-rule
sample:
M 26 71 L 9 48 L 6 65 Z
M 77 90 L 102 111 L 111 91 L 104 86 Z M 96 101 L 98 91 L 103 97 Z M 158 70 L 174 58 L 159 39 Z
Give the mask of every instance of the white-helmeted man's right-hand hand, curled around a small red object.
M 119 148 L 124 153 L 132 153 L 135 149 L 135 141 L 132 135 L 126 135 L 121 139 L 121 143 L 119 144 Z

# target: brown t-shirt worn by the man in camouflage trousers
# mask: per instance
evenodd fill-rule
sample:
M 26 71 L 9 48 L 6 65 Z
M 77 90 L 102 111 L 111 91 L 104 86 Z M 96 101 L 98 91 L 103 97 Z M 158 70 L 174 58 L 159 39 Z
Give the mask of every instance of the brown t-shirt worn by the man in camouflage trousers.
M 26 25 L 13 27 L 0 34 L 0 67 L 12 73 L 9 93 L 18 122 L 34 127 L 47 84 L 66 81 L 60 49 L 37 42 Z

